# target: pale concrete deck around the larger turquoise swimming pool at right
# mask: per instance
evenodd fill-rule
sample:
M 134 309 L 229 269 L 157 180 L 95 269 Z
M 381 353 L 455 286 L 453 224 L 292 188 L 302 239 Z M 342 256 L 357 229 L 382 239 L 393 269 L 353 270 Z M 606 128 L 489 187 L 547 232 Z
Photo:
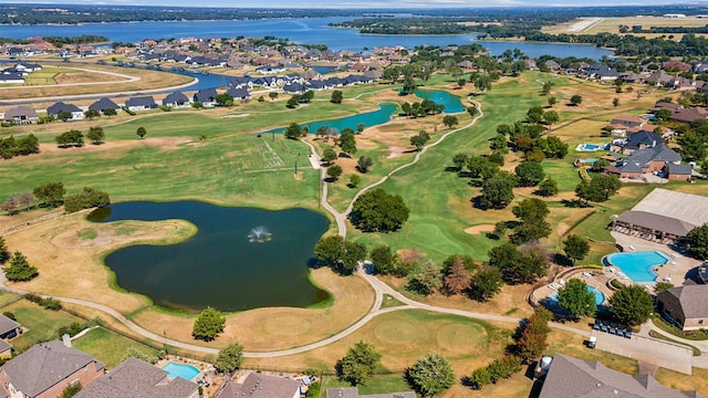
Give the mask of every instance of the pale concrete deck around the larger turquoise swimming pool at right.
M 626 253 L 638 251 L 660 251 L 671 258 L 666 265 L 656 268 L 656 273 L 658 274 L 656 282 L 670 282 L 675 286 L 680 286 L 686 281 L 686 273 L 701 264 L 700 261 L 686 256 L 686 253 L 677 252 L 666 244 L 650 242 L 642 238 L 626 235 L 614 231 L 611 232 L 611 234 Z M 631 280 L 626 279 L 621 279 L 620 281 L 631 282 Z

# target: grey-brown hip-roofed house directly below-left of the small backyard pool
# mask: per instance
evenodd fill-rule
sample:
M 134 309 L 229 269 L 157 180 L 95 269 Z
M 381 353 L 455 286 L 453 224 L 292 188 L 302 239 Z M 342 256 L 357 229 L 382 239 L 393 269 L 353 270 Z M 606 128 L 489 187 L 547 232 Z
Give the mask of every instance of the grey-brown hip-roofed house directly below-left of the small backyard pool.
M 199 386 L 136 358 L 127 358 L 105 376 L 95 379 L 75 398 L 197 398 Z

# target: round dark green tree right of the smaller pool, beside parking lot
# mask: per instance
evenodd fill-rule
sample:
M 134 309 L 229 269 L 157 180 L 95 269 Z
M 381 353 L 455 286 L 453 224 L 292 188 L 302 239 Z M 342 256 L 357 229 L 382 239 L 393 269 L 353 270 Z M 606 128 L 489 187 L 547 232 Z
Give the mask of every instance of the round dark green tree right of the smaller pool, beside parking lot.
M 629 326 L 641 325 L 654 312 L 652 295 L 641 285 L 624 285 L 610 297 L 612 316 Z

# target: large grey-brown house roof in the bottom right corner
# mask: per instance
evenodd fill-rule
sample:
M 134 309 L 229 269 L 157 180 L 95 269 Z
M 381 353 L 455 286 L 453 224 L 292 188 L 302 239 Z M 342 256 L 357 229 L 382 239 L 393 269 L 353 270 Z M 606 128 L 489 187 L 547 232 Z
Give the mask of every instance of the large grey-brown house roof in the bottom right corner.
M 543 380 L 539 398 L 702 398 L 660 385 L 652 375 L 629 376 L 596 360 L 556 354 Z

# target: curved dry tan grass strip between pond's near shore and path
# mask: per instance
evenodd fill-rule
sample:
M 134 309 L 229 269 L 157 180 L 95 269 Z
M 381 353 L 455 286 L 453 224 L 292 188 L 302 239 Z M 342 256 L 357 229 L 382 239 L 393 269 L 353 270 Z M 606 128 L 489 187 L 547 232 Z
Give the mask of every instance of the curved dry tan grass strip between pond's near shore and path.
M 247 350 L 278 350 L 319 342 L 346 328 L 374 305 L 374 293 L 360 276 L 339 276 L 329 269 L 312 271 L 313 281 L 329 291 L 334 303 L 326 308 L 269 307 L 229 315 L 223 333 L 205 345 L 221 347 L 238 341 Z M 143 327 L 170 338 L 194 342 L 195 316 L 146 308 L 133 316 Z

